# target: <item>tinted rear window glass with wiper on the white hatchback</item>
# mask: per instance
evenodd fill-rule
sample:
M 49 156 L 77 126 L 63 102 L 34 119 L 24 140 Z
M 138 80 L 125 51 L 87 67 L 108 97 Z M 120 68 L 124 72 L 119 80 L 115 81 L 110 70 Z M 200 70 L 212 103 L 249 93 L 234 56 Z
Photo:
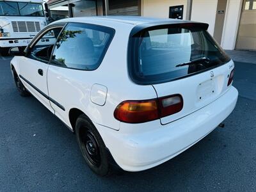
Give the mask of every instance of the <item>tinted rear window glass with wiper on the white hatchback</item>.
M 131 37 L 132 80 L 139 84 L 172 81 L 218 67 L 230 60 L 202 28 L 150 28 Z

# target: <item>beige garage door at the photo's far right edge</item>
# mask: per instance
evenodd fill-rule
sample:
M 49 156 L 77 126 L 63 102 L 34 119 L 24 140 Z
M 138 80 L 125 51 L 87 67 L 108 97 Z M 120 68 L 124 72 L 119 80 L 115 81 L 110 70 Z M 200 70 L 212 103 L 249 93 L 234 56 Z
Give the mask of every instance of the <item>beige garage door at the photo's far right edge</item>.
M 256 51 L 256 0 L 244 0 L 236 49 Z

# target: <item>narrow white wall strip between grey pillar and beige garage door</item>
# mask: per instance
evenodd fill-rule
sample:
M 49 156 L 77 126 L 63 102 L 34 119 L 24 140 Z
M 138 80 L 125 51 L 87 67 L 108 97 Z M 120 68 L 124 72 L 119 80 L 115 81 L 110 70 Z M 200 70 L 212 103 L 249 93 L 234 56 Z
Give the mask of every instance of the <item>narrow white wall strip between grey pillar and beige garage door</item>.
M 233 50 L 236 46 L 242 4 L 243 0 L 228 0 L 221 41 L 223 49 Z

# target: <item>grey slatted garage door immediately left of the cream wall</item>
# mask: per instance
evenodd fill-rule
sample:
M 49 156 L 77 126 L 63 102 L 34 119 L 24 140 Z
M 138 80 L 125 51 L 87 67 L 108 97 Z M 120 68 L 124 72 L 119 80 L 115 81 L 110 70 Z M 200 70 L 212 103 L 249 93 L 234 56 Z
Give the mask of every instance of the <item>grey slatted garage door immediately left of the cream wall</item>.
M 140 15 L 138 0 L 109 0 L 108 15 Z

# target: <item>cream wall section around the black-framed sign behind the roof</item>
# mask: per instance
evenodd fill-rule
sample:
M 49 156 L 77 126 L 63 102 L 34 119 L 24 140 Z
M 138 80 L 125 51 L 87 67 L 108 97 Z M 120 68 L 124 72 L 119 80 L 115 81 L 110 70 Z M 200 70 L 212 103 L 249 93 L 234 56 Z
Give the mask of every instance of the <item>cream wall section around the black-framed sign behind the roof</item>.
M 143 0 L 141 15 L 144 17 L 169 18 L 169 7 L 184 5 L 183 19 L 186 19 L 187 0 Z

